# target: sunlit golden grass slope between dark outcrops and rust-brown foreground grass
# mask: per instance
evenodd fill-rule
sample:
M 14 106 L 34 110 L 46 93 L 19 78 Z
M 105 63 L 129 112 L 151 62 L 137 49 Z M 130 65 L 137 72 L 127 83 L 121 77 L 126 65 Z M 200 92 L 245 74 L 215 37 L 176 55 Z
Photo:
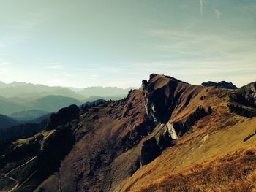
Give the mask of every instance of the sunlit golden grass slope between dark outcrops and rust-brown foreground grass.
M 173 120 L 184 119 L 199 105 L 207 107 L 210 104 L 213 113 L 199 120 L 191 133 L 178 139 L 175 147 L 167 148 L 151 164 L 141 167 L 131 178 L 124 181 L 121 191 L 140 191 L 152 183 L 160 185 L 161 180 L 168 183 L 167 178 L 170 175 L 184 172 L 195 164 L 255 145 L 256 137 L 246 142 L 243 142 L 243 139 L 255 132 L 256 127 L 253 125 L 256 118 L 244 118 L 228 112 L 228 93 L 229 91 L 220 88 L 203 88 L 197 91 L 197 96 L 193 97 L 183 110 L 180 110 L 180 104 L 173 112 Z M 206 96 L 206 100 L 201 101 L 200 96 Z M 173 182 L 175 183 L 175 180 L 170 180 L 170 183 Z

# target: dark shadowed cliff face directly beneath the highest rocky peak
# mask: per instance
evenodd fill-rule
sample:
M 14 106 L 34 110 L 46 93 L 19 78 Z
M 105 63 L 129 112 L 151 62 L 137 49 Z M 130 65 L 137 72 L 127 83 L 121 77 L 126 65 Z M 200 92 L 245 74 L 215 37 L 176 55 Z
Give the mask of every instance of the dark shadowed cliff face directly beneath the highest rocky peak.
M 151 74 L 149 81 L 143 80 L 141 88 L 144 93 L 146 112 L 155 123 L 166 123 L 169 120 L 179 94 L 176 88 L 179 80 Z

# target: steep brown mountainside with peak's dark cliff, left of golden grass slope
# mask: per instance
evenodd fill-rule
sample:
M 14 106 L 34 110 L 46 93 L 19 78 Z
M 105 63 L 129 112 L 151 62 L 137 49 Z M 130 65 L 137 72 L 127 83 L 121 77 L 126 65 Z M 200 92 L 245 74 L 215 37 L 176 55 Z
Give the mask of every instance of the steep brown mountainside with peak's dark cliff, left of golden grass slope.
M 176 134 L 170 117 L 178 104 L 186 107 L 194 98 L 193 93 L 189 93 L 189 99 L 181 96 L 187 96 L 191 86 L 153 74 L 150 80 L 143 80 L 141 90 L 130 92 L 127 99 L 99 104 L 80 115 L 74 131 L 77 142 L 59 169 L 61 189 L 116 190 L 121 180 L 153 161 L 165 147 L 175 145 L 173 140 L 186 131 L 181 134 L 178 130 Z M 156 134 L 159 123 L 164 126 Z M 52 180 L 46 180 L 42 188 Z

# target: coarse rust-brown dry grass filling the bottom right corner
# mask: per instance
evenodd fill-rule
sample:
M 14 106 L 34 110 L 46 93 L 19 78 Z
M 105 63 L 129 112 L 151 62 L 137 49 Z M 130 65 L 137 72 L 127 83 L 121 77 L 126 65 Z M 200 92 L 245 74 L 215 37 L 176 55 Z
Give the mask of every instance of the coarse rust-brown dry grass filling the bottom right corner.
M 256 189 L 256 151 L 239 150 L 197 164 L 138 191 L 252 191 Z

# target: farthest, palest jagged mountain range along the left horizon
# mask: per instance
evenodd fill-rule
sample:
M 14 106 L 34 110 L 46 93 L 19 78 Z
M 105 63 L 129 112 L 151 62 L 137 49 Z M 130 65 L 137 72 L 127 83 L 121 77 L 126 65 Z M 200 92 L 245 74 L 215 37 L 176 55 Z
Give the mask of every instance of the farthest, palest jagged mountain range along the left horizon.
M 43 96 L 58 95 L 72 97 L 78 100 L 86 100 L 90 96 L 100 97 L 123 97 L 127 96 L 129 90 L 135 88 L 117 88 L 117 87 L 89 87 L 89 88 L 64 88 L 50 87 L 40 84 L 26 82 L 0 82 L 0 96 L 5 98 L 19 98 L 21 101 L 35 100 Z

